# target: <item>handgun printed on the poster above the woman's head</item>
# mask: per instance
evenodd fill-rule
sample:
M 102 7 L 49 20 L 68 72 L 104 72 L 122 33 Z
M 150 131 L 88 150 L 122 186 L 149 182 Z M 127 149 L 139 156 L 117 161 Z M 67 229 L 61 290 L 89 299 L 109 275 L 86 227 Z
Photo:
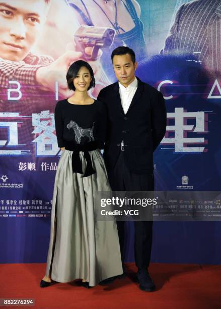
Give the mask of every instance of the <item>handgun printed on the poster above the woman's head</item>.
M 83 52 L 86 60 L 97 60 L 100 48 L 110 48 L 115 30 L 107 27 L 81 25 L 75 33 L 76 49 Z M 85 53 L 86 47 L 93 47 L 91 56 Z

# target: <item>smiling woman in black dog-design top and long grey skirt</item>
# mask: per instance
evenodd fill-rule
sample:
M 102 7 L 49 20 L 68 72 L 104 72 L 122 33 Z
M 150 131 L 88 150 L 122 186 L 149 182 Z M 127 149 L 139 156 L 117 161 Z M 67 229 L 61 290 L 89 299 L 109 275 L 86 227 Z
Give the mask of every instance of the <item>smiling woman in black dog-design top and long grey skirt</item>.
M 122 274 L 115 221 L 94 221 L 96 191 L 110 191 L 99 149 L 105 139 L 106 110 L 88 95 L 95 86 L 91 66 L 73 63 L 66 75 L 74 94 L 58 101 L 55 128 L 62 154 L 55 177 L 51 235 L 46 274 L 41 287 L 51 280 L 70 282 L 81 278 L 83 286 Z

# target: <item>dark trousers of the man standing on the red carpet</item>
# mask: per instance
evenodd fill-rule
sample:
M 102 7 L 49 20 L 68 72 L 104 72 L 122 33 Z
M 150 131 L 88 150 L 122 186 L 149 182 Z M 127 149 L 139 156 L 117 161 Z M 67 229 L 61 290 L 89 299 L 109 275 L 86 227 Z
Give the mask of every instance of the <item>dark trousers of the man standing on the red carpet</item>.
M 137 158 L 139 160 L 139 158 Z M 133 174 L 125 165 L 124 151 L 116 165 L 108 170 L 113 191 L 154 191 L 154 175 Z M 124 221 L 117 221 L 122 263 L 124 261 Z M 152 248 L 153 221 L 134 221 L 134 255 L 138 269 L 149 267 Z

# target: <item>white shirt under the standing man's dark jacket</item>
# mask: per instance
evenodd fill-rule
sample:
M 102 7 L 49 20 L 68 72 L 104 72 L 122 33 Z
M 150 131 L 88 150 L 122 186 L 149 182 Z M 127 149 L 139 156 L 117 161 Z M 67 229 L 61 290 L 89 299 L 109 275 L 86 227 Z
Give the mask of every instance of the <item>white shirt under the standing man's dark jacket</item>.
M 130 83 L 127 87 L 124 87 L 123 85 L 121 85 L 120 82 L 118 83 L 119 83 L 121 105 L 122 105 L 124 114 L 126 114 L 130 107 L 133 96 L 136 92 L 138 81 L 135 77 L 132 83 Z M 121 146 L 123 146 L 123 140 L 121 142 Z

